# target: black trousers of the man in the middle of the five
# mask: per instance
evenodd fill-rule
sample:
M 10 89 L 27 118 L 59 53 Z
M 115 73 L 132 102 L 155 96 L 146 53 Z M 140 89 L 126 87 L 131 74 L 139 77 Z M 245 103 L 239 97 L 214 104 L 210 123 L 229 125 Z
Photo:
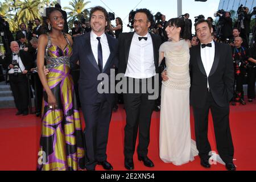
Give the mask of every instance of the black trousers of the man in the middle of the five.
M 146 156 L 148 153 L 148 144 L 150 143 L 150 123 L 151 115 L 154 109 L 155 100 L 148 99 L 152 95 L 141 92 L 141 88 L 149 82 L 141 79 L 131 79 L 131 81 L 140 86 L 139 93 L 124 93 L 123 101 L 126 110 L 126 126 L 125 126 L 125 158 L 132 159 L 135 151 L 135 144 L 139 129 L 139 144 L 137 152 L 139 156 Z M 131 83 L 131 82 L 130 82 Z M 129 83 L 129 84 L 130 84 Z M 154 79 L 152 79 L 154 85 Z M 129 86 L 127 86 L 129 90 Z M 133 90 L 134 91 L 134 90 Z

